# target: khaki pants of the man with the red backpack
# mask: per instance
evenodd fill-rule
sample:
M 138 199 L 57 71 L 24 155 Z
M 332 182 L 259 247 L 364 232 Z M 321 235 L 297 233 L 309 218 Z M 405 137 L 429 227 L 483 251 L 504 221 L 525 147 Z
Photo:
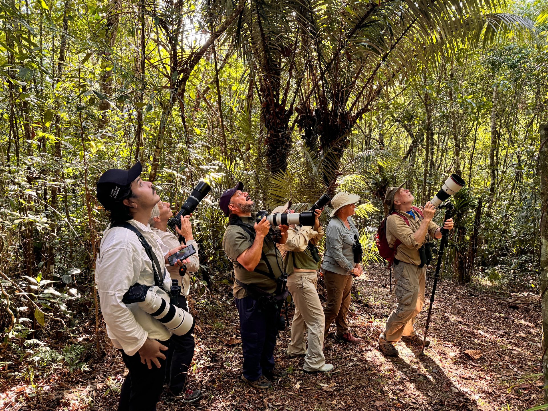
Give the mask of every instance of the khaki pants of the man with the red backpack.
M 415 335 L 415 318 L 424 305 L 426 266 L 399 262 L 394 266 L 396 278 L 396 309 L 386 320 L 386 328 L 379 341 L 399 341 L 402 335 Z

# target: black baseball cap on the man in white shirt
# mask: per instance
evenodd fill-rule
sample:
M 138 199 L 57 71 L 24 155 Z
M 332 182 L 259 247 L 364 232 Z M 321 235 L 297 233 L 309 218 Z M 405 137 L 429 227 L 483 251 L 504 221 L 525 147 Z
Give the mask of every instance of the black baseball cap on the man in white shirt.
M 112 210 L 116 204 L 129 195 L 129 186 L 142 172 L 138 161 L 129 170 L 111 168 L 106 170 L 97 181 L 97 199 L 107 210 Z

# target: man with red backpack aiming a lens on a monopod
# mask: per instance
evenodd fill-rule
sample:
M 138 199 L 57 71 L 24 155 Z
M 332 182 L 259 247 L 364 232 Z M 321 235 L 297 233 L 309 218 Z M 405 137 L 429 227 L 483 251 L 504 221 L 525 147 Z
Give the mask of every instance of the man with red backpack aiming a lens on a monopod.
M 423 337 L 416 333 L 414 323 L 423 309 L 426 264 L 421 262 L 419 249 L 430 238 L 441 238 L 441 228 L 432 218 L 436 207 L 429 201 L 423 209 L 413 207 L 415 197 L 403 188 L 389 187 L 384 198 L 390 215 L 386 219 L 386 240 L 391 248 L 396 247 L 394 276 L 396 278 L 396 309 L 386 320 L 386 327 L 379 336 L 379 349 L 388 356 L 396 357 L 398 350 L 393 343 L 402 339 L 404 343 L 422 346 Z M 445 222 L 444 229 L 453 229 L 453 220 Z M 426 340 L 426 345 L 430 341 Z

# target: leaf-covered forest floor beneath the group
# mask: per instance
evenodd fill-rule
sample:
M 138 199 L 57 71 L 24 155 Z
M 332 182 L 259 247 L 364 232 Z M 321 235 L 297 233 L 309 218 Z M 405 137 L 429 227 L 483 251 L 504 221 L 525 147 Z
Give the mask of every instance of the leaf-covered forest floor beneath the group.
M 353 332 L 363 337 L 362 344 L 338 343 L 332 326 L 325 355 L 335 372 L 309 375 L 302 372 L 302 358 L 286 356 L 286 329 L 280 333 L 275 358 L 277 367 L 290 374 L 260 392 L 238 379 L 242 348 L 237 311 L 231 303 L 231 287 L 220 284 L 216 296 L 202 296 L 194 304 L 201 318 L 189 386 L 203 390 L 203 398 L 179 407 L 161 401 L 158 410 L 521 411 L 541 403 L 538 296 L 442 281 L 432 313 L 432 346 L 420 355 L 420 349 L 397 343 L 400 357 L 389 358 L 376 348 L 395 305 L 388 272 L 381 266 L 369 267 L 357 286 L 360 293 L 353 299 L 349 322 Z M 427 292 L 431 286 L 429 278 Z M 427 306 L 417 320 L 421 333 L 426 313 Z M 58 341 L 59 346 L 64 342 Z M 28 378 L 27 383 L 8 379 L 8 367 L 0 368 L 0 409 L 110 411 L 116 409 L 124 373 L 123 362 L 110 345 L 106 356 L 92 361 L 89 370 L 69 374 L 60 369 L 47 373 L 47 378 L 37 375 L 33 385 Z

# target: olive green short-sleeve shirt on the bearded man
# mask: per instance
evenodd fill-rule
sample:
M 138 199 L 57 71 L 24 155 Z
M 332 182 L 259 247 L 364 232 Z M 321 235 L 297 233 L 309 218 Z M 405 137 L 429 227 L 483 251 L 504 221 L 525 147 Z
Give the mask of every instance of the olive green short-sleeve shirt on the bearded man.
M 252 232 L 255 232 L 253 228 L 255 224 L 256 214 L 252 213 L 250 217 L 241 217 L 244 224 L 248 225 Z M 239 264 L 237 258 L 245 250 L 253 245 L 253 240 L 249 234 L 242 227 L 230 224 L 226 227 L 225 235 L 222 237 L 222 248 L 225 250 L 229 260 L 234 265 L 234 275 L 239 282 L 244 284 L 253 284 L 256 287 L 265 290 L 267 293 L 273 293 L 276 291 L 276 282 L 256 271 L 247 271 L 241 264 Z M 273 242 L 271 236 L 266 236 L 262 242 L 262 252 L 269 261 L 272 268 L 273 275 L 278 278 L 282 275 L 282 254 L 278 251 L 276 244 Z M 262 259 L 255 267 L 256 270 L 269 272 L 269 267 Z M 247 296 L 247 291 L 234 282 L 234 288 L 232 294 L 235 298 L 244 298 Z

